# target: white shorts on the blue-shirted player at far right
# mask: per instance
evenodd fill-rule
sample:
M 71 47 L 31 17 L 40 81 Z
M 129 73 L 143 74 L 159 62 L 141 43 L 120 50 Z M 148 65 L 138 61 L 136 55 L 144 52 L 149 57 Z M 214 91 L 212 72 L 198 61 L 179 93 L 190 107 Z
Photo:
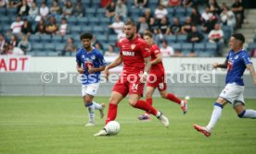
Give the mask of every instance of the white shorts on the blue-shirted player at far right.
M 220 94 L 220 97 L 229 101 L 233 106 L 235 106 L 237 102 L 244 104 L 244 89 L 244 86 L 239 86 L 236 83 L 227 84 Z

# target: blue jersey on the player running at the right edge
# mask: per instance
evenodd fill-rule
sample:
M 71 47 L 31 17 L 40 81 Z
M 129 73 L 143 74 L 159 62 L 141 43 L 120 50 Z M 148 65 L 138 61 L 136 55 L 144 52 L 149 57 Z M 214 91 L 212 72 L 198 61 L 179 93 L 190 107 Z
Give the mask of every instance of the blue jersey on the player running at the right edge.
M 244 86 L 243 74 L 246 65 L 252 64 L 248 53 L 242 49 L 238 53 L 231 50 L 227 56 L 227 74 L 225 77 L 225 84 L 236 83 L 237 85 Z

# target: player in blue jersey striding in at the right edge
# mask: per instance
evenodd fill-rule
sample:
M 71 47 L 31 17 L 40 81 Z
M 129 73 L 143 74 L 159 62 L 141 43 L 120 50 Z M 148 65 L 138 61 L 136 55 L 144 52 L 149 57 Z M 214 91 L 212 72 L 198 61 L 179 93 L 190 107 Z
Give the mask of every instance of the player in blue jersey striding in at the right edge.
M 246 68 L 249 69 L 254 85 L 256 86 L 256 74 L 248 53 L 243 49 L 245 37 L 237 33 L 231 36 L 229 41 L 230 52 L 227 54 L 224 64 L 214 63 L 214 68 L 226 68 L 226 86 L 219 98 L 214 103 L 211 120 L 207 126 L 194 124 L 194 128 L 205 136 L 211 136 L 211 131 L 222 115 L 224 105 L 230 103 L 237 112 L 239 118 L 256 118 L 256 111 L 245 109 L 243 74 Z

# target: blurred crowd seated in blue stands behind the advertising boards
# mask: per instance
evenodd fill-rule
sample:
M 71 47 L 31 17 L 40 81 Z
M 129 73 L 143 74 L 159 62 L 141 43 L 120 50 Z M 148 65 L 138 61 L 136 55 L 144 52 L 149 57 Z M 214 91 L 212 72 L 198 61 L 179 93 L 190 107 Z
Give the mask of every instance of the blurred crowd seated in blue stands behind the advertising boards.
M 94 46 L 117 56 L 132 18 L 141 37 L 154 33 L 163 56 L 222 56 L 244 7 L 217 0 L 1 0 L 0 53 L 74 56 L 80 34 L 91 31 Z

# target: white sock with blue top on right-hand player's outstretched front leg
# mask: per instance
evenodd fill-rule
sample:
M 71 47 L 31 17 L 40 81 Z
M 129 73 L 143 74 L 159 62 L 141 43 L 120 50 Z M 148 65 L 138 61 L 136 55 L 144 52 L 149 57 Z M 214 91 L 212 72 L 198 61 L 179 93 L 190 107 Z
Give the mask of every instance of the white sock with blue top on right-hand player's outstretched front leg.
M 211 132 L 211 129 L 217 123 L 218 119 L 222 116 L 223 106 L 220 103 L 214 103 L 214 109 L 211 113 L 211 120 L 209 124 L 206 126 L 207 131 Z

